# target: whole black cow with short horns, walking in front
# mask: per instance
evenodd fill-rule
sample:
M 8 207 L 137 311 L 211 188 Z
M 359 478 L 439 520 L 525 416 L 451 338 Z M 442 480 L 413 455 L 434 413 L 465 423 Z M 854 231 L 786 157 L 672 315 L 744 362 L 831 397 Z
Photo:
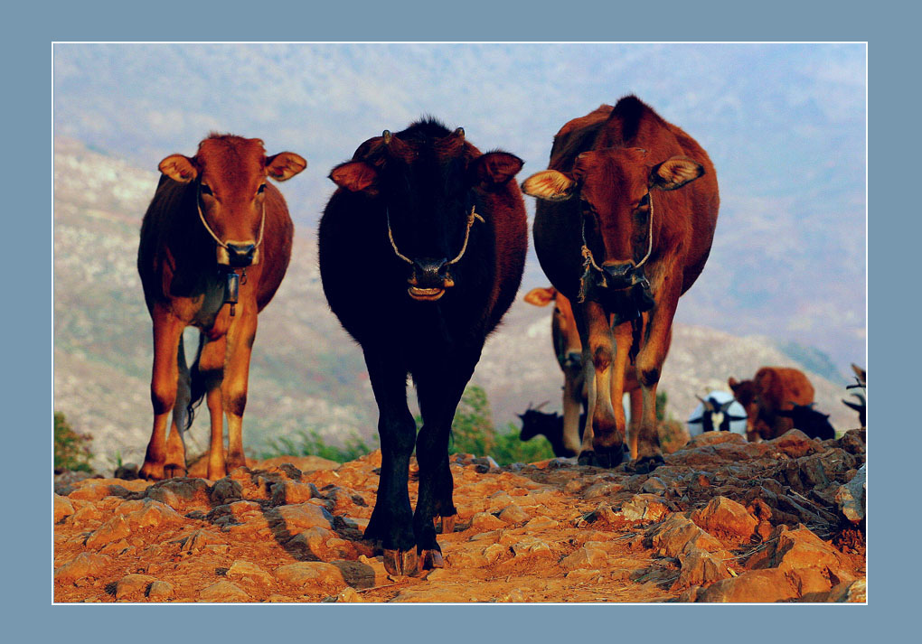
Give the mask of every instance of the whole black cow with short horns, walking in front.
M 443 566 L 433 521 L 454 530 L 455 408 L 525 267 L 525 203 L 511 181 L 522 165 L 508 152 L 481 153 L 463 128 L 426 118 L 368 139 L 330 172 L 337 191 L 320 221 L 320 273 L 330 309 L 361 345 L 378 406 L 381 480 L 365 537 L 380 542 L 391 574 Z

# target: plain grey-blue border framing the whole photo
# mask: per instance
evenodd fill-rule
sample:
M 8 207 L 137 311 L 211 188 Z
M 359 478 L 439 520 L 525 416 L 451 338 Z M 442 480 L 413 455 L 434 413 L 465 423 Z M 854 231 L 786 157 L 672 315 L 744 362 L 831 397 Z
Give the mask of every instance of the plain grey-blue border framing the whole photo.
M 898 622 L 915 599 L 912 568 L 917 555 L 911 547 L 914 531 L 907 522 L 914 505 L 900 492 L 909 487 L 918 453 L 918 422 L 912 409 L 906 362 L 916 359 L 916 315 L 902 314 L 903 302 L 918 292 L 903 258 L 916 258 L 918 207 L 903 197 L 912 190 L 917 167 L 911 145 L 917 122 L 918 24 L 896 3 L 877 2 L 869 8 L 842 3 L 773 2 L 743 8 L 737 2 L 543 3 L 517 6 L 471 0 L 446 11 L 431 2 L 365 3 L 306 6 L 277 2 L 272 11 L 255 3 L 233 8 L 161 1 L 144 6 L 123 2 L 83 2 L 69 6 L 32 3 L 6 8 L 12 32 L 6 53 L 6 222 L 13 223 L 7 248 L 4 287 L 8 297 L 3 316 L 6 331 L 5 439 L 7 498 L 6 552 L 3 593 L 6 615 L 14 623 L 8 632 L 29 633 L 44 640 L 128 637 L 140 641 L 166 638 L 260 639 L 301 635 L 348 640 L 368 636 L 469 640 L 534 635 L 540 640 L 606 639 L 669 635 L 727 638 L 796 638 L 822 633 L 850 638 L 868 636 L 883 620 L 888 632 L 899 633 Z M 45 5 L 45 6 L 42 6 Z M 214 5 L 214 3 L 208 3 Z M 328 5 L 326 3 L 325 5 Z M 619 4 L 620 5 L 620 4 Z M 410 8 L 406 8 L 409 6 Z M 901 3 L 900 7 L 904 7 Z M 232 18 L 230 18 L 232 17 Z M 719 18 L 717 18 L 719 17 Z M 893 19 L 898 18 L 898 19 Z M 333 613 L 326 607 L 194 607 L 52 606 L 48 525 L 47 423 L 52 407 L 52 41 L 869 41 L 869 367 L 874 400 L 870 444 L 874 459 L 869 473 L 873 499 L 868 607 L 788 607 L 784 615 L 756 615 L 765 607 L 731 607 L 719 615 L 716 607 L 451 607 L 395 609 L 363 607 Z M 897 128 L 899 128 L 897 130 Z M 912 133 L 912 134 L 911 134 Z M 7 233 L 9 235 L 9 233 Z M 8 256 L 8 255 L 7 255 Z M 13 271 L 10 267 L 16 267 Z M 809 278 L 809 276 L 808 276 Z M 916 312 L 916 305 L 907 312 Z M 873 312 L 878 311 L 877 315 Z M 903 340 L 905 338 L 905 340 Z M 907 344 L 908 343 L 908 344 Z M 899 351 L 909 361 L 897 360 Z M 902 356 L 901 356 L 902 357 Z M 915 370 L 914 370 L 915 371 Z M 10 388 L 10 382 L 12 388 Z M 880 385 L 878 384 L 880 383 Z M 903 413 L 901 413 L 903 412 Z M 878 439 L 877 437 L 880 437 Z M 876 449 L 874 449 L 876 448 Z M 20 491 L 21 490 L 21 491 Z M 14 605 L 15 604 L 15 605 Z M 150 621 L 142 611 L 170 611 Z M 272 610 L 272 613 L 268 613 Z M 342 609 L 338 609 L 342 610 Z M 349 610 L 349 609 L 346 609 Z M 666 610 L 673 611 L 668 615 Z M 777 609 L 774 609 L 777 610 Z M 55 614 L 66 611 L 66 615 Z M 675 611 L 680 611 L 676 613 Z M 855 611 L 861 611 L 857 614 Z M 475 615 L 476 612 L 476 615 Z M 147 617 L 147 619 L 145 619 Z M 769 617 L 769 619 L 766 619 Z M 169 620 L 169 621 L 167 621 Z M 206 621 L 207 620 L 207 621 Z M 18 622 L 18 625 L 17 625 Z M 20 627 L 17 627 L 20 626 Z M 698 628 L 696 626 L 703 626 Z M 403 634 L 403 628 L 412 629 Z M 168 632 L 161 632 L 161 628 Z M 816 629 L 816 630 L 814 630 Z M 915 629 L 914 629 L 915 630 Z

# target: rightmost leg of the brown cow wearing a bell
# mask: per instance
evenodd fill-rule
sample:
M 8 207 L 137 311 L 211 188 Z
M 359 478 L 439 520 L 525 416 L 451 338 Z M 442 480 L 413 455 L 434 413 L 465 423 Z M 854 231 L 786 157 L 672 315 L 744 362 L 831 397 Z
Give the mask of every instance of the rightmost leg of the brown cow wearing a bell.
M 250 357 L 256 339 L 256 309 L 242 307 L 240 317 L 228 329 L 228 360 L 225 378 L 221 383 L 224 413 L 228 416 L 227 468 L 246 465 L 243 455 L 243 410 L 250 378 Z

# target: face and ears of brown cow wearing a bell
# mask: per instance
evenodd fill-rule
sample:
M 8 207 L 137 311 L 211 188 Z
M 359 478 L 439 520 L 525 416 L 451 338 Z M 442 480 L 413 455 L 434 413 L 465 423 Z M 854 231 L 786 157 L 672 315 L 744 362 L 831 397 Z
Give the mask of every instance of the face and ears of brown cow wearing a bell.
M 202 217 L 221 242 L 218 263 L 241 267 L 259 261 L 266 179 L 285 181 L 306 166 L 292 152 L 266 157 L 260 139 L 223 135 L 202 141 L 194 158 L 163 159 L 160 171 L 174 181 L 195 181 Z

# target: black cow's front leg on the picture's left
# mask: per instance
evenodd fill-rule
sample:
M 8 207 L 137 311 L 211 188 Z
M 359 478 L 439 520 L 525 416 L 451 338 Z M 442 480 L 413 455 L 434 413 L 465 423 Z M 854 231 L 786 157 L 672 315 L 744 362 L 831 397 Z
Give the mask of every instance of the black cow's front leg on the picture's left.
M 365 364 L 378 404 L 381 439 L 381 478 L 365 538 L 381 542 L 387 572 L 412 575 L 418 566 L 408 484 L 416 421 L 407 405 L 407 369 L 398 357 L 367 349 Z

